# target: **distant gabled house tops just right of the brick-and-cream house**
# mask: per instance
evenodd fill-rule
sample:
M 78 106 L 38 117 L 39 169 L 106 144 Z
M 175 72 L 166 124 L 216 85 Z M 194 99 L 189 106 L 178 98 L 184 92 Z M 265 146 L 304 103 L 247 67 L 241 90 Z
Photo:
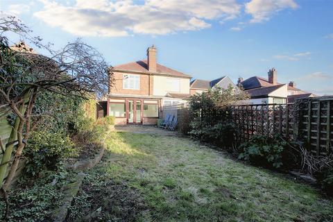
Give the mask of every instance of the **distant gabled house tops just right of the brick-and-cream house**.
M 200 94 L 202 92 L 207 92 L 209 89 L 214 89 L 216 87 L 227 89 L 229 85 L 232 85 L 234 89 L 238 89 L 237 85 L 234 85 L 234 83 L 232 83 L 232 80 L 228 76 L 216 78 L 211 81 L 195 79 L 191 81 L 189 92 L 191 95 Z

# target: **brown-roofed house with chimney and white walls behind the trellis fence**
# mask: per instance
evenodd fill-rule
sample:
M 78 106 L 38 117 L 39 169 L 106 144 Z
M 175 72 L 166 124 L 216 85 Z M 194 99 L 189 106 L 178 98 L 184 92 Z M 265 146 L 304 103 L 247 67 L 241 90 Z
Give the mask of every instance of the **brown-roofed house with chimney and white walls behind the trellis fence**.
M 242 101 L 247 104 L 293 103 L 296 99 L 316 96 L 296 88 L 293 81 L 289 84 L 278 83 L 278 71 L 275 68 L 268 71 L 268 79 L 259 76 L 246 80 L 239 78 L 237 85 L 250 95 L 250 99 Z

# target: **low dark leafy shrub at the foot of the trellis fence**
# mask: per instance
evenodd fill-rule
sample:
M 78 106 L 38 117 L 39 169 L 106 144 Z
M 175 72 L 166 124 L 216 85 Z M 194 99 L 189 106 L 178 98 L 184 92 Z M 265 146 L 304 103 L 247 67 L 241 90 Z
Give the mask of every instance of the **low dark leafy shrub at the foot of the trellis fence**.
M 290 146 L 280 135 L 273 138 L 257 135 L 241 144 L 240 148 L 242 153 L 239 154 L 239 159 L 265 167 L 280 168 L 285 162 L 284 156 Z

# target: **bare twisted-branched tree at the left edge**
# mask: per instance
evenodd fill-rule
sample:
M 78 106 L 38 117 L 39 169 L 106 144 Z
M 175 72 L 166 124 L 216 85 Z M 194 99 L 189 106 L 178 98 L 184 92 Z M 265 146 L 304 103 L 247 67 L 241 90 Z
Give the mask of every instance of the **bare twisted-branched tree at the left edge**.
M 10 47 L 7 33 L 19 35 L 49 55 L 37 54 L 24 43 Z M 31 131 L 40 119 L 32 119 L 39 94 L 49 91 L 69 98 L 102 96 L 109 84 L 108 66 L 92 46 L 76 40 L 54 51 L 50 45 L 42 44 L 40 37 L 31 37 L 29 33 L 31 31 L 15 17 L 0 19 L 0 118 L 5 118 L 9 112 L 16 117 L 6 146 L 0 140 L 1 147 L 6 147 L 0 163 L 0 187 L 6 203 L 6 189 L 15 176 Z M 15 142 L 17 149 L 11 161 Z

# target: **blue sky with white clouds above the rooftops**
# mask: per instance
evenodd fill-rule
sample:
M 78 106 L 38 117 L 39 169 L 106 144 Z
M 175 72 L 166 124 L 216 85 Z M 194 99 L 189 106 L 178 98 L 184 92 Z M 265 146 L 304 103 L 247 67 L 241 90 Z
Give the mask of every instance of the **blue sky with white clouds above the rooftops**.
M 55 49 L 78 37 L 112 66 L 146 58 L 193 78 L 267 78 L 333 95 L 333 0 L 0 0 Z

